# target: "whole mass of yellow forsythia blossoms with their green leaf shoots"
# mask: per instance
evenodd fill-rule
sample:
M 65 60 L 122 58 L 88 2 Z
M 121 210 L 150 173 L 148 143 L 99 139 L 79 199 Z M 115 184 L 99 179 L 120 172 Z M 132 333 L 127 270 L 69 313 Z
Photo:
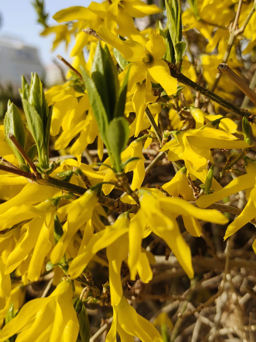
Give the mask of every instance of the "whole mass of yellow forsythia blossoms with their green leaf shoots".
M 87 302 L 112 306 L 107 342 L 117 333 L 121 341 L 163 341 L 124 290 L 154 277 L 149 238 L 162 241 L 192 279 L 186 236 L 200 237 L 201 222 L 229 222 L 207 207 L 246 190 L 247 204 L 224 239 L 256 217 L 255 160 L 246 157 L 255 108 L 232 103 L 236 85 L 223 77 L 217 87 L 216 76 L 221 62 L 242 66 L 241 39 L 243 53 L 253 55 L 255 5 L 240 2 L 183 8 L 165 0 L 166 11 L 140 0 L 91 2 L 45 25 L 42 35 L 56 35 L 53 49 L 61 41 L 69 47 L 74 35 L 74 58 L 66 83 L 45 92 L 36 74 L 30 84 L 23 78 L 25 116 L 9 101 L 0 125 L 0 342 L 88 342 Z M 154 19 L 139 30 L 135 19 L 146 16 Z M 189 30 L 199 37 L 194 55 Z M 146 176 L 163 156 L 176 174 L 152 187 Z M 91 278 L 95 264 L 108 269 L 103 288 Z M 51 294 L 24 304 L 27 286 L 49 274 Z

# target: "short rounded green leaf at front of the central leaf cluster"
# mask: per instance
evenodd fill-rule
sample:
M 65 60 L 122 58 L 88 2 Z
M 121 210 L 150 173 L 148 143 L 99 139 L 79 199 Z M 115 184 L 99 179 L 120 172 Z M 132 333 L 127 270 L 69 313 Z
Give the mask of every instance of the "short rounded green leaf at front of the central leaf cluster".
M 114 157 L 116 170 L 121 171 L 121 152 L 129 139 L 129 123 L 123 117 L 113 119 L 107 130 L 110 153 Z

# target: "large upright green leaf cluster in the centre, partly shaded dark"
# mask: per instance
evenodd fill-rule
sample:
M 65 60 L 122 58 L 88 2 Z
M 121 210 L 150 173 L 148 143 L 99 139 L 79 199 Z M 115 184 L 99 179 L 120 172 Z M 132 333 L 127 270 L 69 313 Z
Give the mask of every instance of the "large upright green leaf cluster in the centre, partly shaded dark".
M 120 87 L 118 72 L 108 48 L 102 48 L 100 41 L 95 51 L 91 77 L 82 67 L 81 71 L 101 139 L 114 169 L 121 172 L 120 155 L 129 139 L 129 123 L 124 118 L 128 73 Z

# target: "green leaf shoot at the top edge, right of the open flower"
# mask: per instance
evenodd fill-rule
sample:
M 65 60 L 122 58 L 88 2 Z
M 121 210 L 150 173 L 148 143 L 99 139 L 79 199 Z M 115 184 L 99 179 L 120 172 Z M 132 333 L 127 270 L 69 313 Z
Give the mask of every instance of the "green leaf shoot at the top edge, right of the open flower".
M 166 7 L 166 17 L 167 17 L 167 26 L 169 29 L 170 40 L 168 36 L 163 36 L 168 43 L 167 50 L 172 51 L 174 49 L 175 58 L 170 54 L 171 63 L 178 65 L 182 64 L 182 56 L 186 49 L 186 43 L 182 40 L 182 23 L 181 23 L 181 9 L 179 0 L 165 0 Z

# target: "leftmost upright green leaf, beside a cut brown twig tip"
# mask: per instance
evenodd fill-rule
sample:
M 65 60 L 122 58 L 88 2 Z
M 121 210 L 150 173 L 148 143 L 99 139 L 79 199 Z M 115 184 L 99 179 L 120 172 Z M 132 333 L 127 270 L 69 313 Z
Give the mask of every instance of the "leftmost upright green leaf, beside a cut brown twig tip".
M 7 143 L 9 144 L 16 158 L 18 159 L 19 165 L 26 164 L 24 158 L 19 153 L 17 147 L 9 138 L 9 134 L 14 135 L 17 141 L 20 143 L 20 145 L 23 148 L 25 148 L 27 136 L 24 124 L 22 122 L 18 108 L 13 103 L 11 103 L 10 100 L 8 102 L 7 112 L 4 117 L 4 135 Z

